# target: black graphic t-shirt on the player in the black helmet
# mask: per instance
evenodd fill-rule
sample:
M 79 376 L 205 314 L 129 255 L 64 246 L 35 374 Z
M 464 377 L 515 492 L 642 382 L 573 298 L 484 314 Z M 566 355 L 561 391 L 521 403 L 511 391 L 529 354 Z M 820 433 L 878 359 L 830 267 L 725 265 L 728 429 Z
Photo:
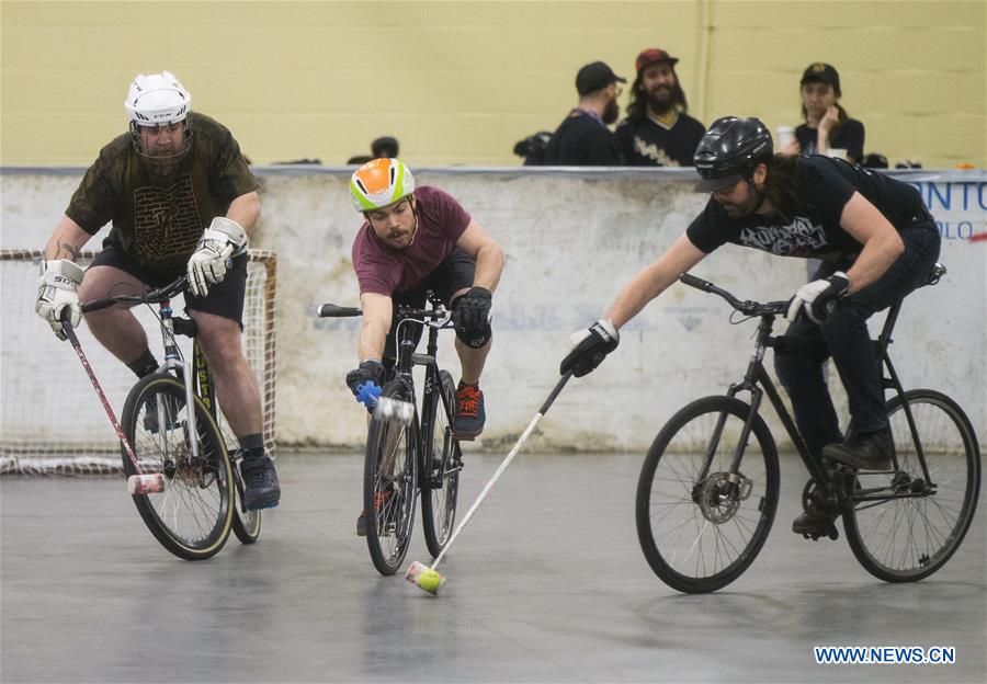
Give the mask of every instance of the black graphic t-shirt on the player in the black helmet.
M 781 256 L 854 259 L 861 244 L 840 227 L 843 206 L 854 192 L 898 230 L 930 221 L 921 195 L 911 185 L 840 159 L 802 156 L 797 164 L 798 205 L 792 217 L 755 214 L 735 219 L 711 197 L 687 229 L 689 240 L 707 254 L 733 242 Z

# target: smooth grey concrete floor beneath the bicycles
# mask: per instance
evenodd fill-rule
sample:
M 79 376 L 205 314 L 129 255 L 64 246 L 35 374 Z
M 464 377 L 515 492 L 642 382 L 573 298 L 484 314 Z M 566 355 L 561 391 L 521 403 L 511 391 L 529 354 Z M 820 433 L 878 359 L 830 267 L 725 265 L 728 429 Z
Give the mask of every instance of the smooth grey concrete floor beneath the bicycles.
M 461 514 L 500 456 L 468 455 Z M 373 569 L 353 533 L 362 457 L 280 459 L 261 540 L 178 560 L 109 478 L 3 478 L 3 682 L 985 682 L 984 498 L 963 547 L 884 584 L 841 537 L 772 536 L 685 596 L 634 526 L 640 455 L 521 454 L 451 552 L 438 597 Z M 417 523 L 417 527 L 420 523 Z M 408 561 L 426 561 L 420 529 Z M 952 646 L 952 665 L 817 665 L 814 646 Z

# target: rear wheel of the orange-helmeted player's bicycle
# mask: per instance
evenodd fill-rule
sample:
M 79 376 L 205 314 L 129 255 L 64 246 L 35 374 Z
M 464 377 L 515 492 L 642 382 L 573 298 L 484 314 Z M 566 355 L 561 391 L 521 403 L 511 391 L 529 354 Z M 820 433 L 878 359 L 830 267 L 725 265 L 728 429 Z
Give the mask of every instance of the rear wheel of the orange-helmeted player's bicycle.
M 463 469 L 460 442 L 452 436 L 456 386 L 447 372 L 440 371 L 439 377 L 442 397 L 432 392 L 421 425 L 423 434 L 429 431 L 432 434 L 431 453 L 423 454 L 421 459 L 421 523 L 432 558 L 442 552 L 455 528 L 460 471 Z

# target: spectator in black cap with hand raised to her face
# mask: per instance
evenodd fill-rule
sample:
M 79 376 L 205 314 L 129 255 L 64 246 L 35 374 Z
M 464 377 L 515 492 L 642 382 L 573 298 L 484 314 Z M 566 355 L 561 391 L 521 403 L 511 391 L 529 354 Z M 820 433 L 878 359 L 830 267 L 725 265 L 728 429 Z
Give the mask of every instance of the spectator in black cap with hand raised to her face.
M 863 159 L 864 128 L 840 105 L 840 75 L 832 65 L 817 61 L 802 75 L 802 116 L 795 141 L 782 151 L 789 155 L 830 155 L 847 150 L 847 160 Z

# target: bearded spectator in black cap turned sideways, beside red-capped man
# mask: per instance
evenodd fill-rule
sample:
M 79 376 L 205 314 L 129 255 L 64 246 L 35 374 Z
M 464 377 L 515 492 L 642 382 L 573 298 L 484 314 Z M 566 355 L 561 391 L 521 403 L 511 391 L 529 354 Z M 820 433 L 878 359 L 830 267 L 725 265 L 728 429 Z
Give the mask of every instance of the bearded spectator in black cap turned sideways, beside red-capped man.
M 569 112 L 545 148 L 544 163 L 558 167 L 614 167 L 622 163 L 616 140 L 606 127 L 620 116 L 617 83 L 627 80 L 602 61 L 576 75 L 579 104 Z

